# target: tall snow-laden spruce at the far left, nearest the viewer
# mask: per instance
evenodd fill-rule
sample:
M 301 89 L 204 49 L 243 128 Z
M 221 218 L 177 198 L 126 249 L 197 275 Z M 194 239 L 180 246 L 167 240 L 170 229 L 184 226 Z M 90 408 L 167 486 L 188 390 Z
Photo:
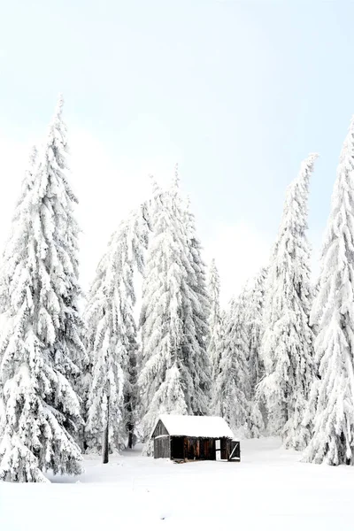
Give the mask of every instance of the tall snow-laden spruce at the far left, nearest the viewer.
M 35 171 L 27 173 L 4 251 L 0 478 L 8 481 L 46 481 L 48 469 L 81 473 L 80 403 L 73 390 L 84 356 L 78 227 L 62 105 L 60 98 Z

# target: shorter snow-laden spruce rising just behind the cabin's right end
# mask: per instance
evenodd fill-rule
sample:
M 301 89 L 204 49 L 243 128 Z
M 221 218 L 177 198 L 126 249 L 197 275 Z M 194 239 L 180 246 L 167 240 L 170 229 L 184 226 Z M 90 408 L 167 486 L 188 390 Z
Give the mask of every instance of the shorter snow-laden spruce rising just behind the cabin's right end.
M 212 410 L 235 434 L 249 435 L 250 370 L 244 327 L 245 291 L 233 299 L 221 323 L 219 369 L 213 384 Z

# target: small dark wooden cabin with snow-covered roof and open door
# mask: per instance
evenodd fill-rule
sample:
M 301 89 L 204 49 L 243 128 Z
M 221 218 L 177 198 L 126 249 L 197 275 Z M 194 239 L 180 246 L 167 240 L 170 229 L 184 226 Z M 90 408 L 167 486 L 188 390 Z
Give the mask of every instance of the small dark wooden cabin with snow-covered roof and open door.
M 154 458 L 240 461 L 240 443 L 221 417 L 160 415 L 151 438 Z

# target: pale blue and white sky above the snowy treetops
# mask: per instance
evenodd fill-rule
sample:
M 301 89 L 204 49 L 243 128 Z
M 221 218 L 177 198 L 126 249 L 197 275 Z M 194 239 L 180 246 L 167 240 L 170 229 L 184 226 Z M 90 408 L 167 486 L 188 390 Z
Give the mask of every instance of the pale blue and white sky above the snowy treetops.
M 226 301 L 266 263 L 301 160 L 319 152 L 317 259 L 354 112 L 354 3 L 12 0 L 0 6 L 0 243 L 59 91 L 79 196 L 82 281 L 119 219 L 179 162 Z

